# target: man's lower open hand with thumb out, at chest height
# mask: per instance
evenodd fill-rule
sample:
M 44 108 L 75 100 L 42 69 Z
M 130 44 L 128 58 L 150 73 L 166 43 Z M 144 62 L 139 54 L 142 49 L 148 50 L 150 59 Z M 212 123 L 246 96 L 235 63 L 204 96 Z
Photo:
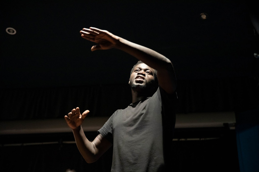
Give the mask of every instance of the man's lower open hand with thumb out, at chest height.
M 79 107 L 73 109 L 65 116 L 68 126 L 72 129 L 76 129 L 83 123 L 84 118 L 87 116 L 88 113 L 89 111 L 86 110 L 81 115 L 79 111 Z

